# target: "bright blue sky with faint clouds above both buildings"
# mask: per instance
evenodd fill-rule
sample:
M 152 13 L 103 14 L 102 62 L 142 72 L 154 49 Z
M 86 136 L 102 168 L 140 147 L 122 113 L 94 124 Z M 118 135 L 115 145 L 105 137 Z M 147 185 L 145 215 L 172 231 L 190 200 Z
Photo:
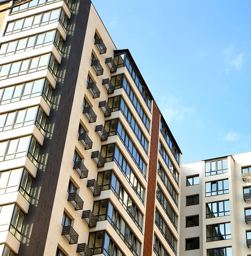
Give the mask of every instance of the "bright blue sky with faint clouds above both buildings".
M 129 49 L 182 163 L 251 151 L 251 1 L 93 0 Z

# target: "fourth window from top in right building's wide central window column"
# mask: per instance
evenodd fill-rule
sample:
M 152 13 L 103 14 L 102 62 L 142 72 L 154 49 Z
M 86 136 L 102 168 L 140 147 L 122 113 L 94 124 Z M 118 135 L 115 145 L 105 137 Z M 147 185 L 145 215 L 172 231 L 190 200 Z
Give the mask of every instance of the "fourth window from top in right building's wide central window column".
M 231 239 L 230 222 L 206 226 L 207 242 Z

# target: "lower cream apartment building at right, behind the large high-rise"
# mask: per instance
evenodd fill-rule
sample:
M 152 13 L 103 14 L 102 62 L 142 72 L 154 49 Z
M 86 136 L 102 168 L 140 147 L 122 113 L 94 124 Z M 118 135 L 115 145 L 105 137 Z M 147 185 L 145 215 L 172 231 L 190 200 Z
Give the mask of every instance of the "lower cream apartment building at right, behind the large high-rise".
M 180 256 L 251 255 L 251 152 L 181 172 Z

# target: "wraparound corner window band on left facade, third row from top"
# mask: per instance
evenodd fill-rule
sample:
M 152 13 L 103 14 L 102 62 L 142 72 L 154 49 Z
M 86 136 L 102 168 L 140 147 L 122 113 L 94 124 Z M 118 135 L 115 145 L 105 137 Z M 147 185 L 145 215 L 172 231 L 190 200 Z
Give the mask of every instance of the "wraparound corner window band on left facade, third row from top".
M 0 57 L 37 49 L 49 44 L 54 44 L 58 51 L 61 53 L 63 47 L 63 39 L 57 30 L 51 30 L 45 33 L 24 37 L 15 41 L 2 43 L 0 49 Z

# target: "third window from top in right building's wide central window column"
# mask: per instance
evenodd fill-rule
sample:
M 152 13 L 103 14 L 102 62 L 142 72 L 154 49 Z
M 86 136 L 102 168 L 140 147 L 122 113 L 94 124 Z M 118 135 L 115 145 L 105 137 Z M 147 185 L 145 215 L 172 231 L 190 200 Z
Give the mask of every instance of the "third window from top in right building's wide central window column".
M 206 218 L 230 215 L 229 200 L 206 204 Z

